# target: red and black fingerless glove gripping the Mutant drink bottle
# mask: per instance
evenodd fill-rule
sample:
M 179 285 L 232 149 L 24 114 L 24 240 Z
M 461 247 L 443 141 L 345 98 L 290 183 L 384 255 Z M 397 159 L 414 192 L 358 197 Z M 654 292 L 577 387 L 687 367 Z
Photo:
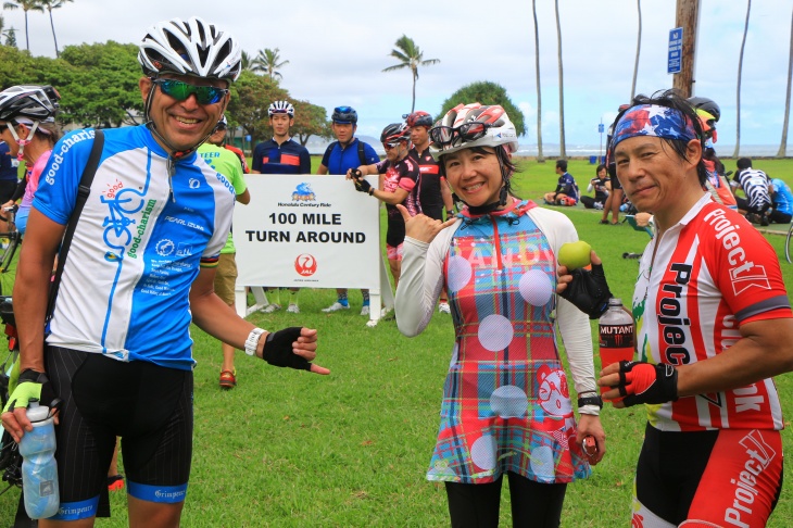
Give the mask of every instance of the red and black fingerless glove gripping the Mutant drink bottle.
M 675 366 L 639 361 L 619 362 L 619 395 L 626 407 L 639 403 L 666 403 L 678 399 L 678 370 Z

